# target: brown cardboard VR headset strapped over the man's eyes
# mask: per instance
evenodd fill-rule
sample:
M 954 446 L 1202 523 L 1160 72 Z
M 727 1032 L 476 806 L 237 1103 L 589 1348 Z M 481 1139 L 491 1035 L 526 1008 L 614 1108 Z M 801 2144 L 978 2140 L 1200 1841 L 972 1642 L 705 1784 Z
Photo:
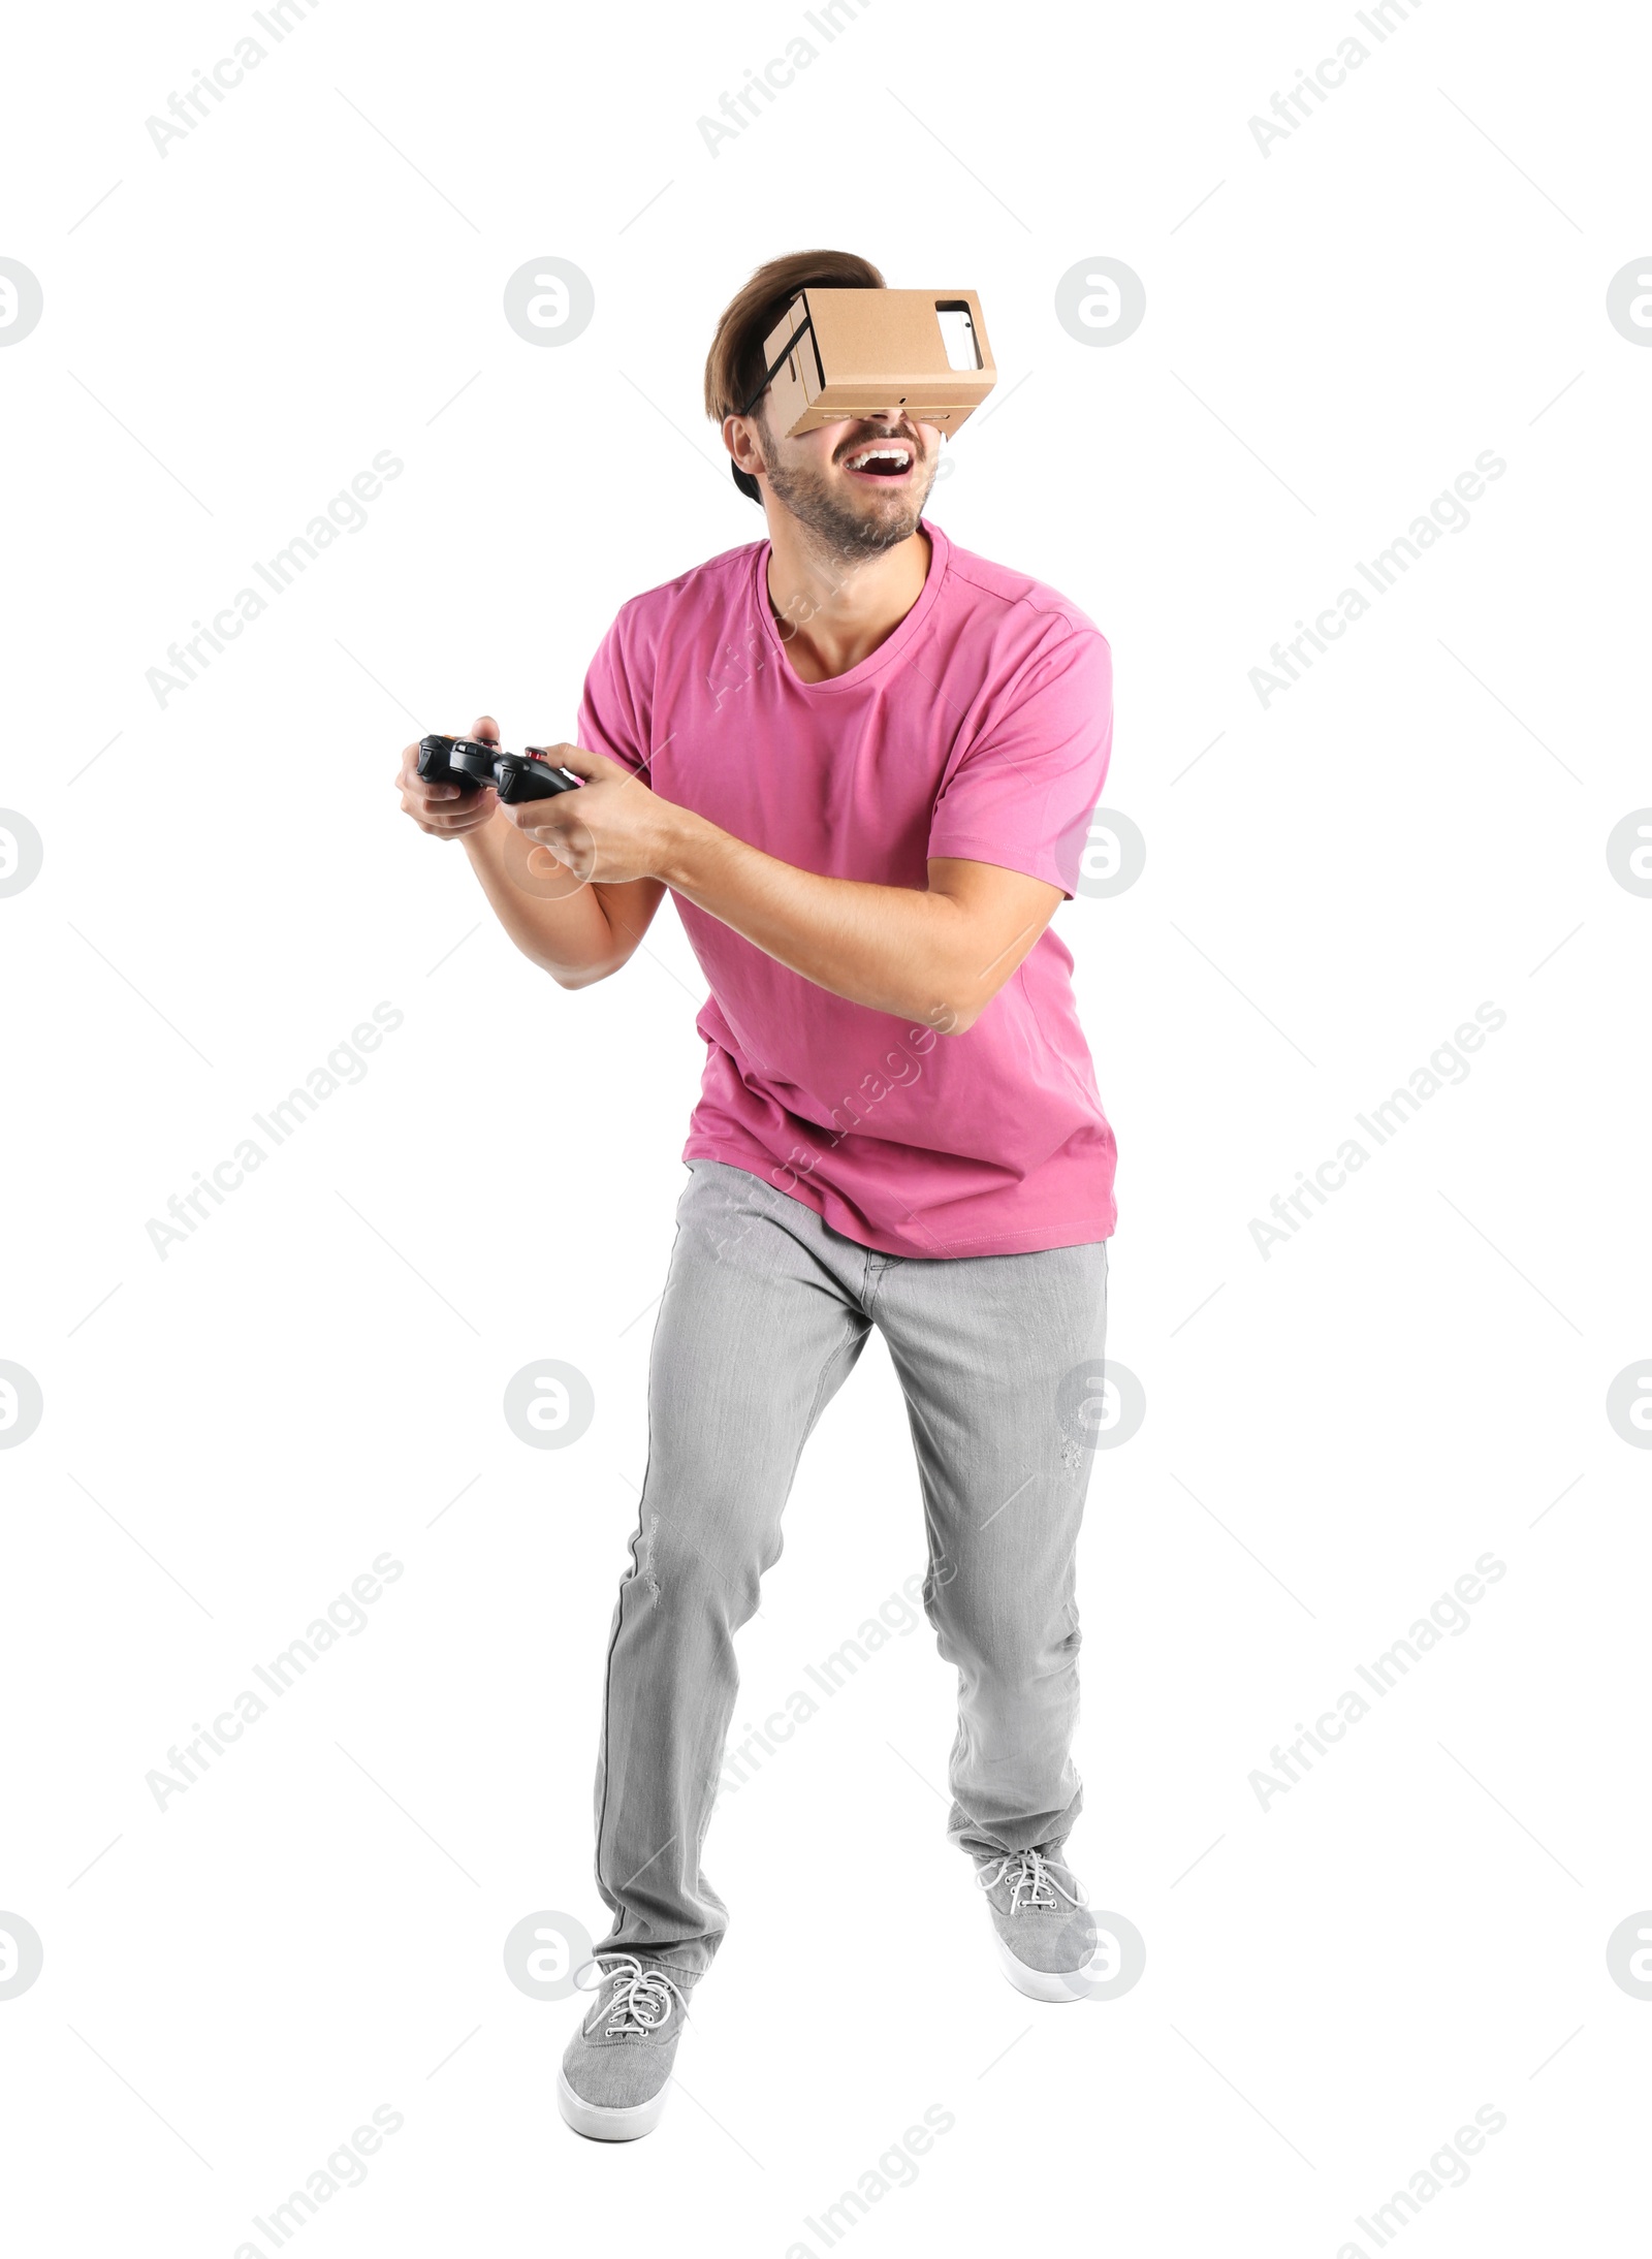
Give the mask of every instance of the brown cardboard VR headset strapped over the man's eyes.
M 768 425 L 795 438 L 904 409 L 954 434 L 999 382 L 972 289 L 800 289 L 764 339 Z

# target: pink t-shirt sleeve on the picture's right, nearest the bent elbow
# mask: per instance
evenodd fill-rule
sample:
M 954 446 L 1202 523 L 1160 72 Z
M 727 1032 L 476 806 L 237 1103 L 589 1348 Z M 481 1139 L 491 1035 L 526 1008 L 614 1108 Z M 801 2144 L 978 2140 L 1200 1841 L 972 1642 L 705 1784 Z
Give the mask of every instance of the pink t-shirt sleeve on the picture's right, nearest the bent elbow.
M 931 856 L 999 863 L 1071 901 L 1112 759 L 1112 653 L 1076 628 L 1006 691 L 936 800 Z

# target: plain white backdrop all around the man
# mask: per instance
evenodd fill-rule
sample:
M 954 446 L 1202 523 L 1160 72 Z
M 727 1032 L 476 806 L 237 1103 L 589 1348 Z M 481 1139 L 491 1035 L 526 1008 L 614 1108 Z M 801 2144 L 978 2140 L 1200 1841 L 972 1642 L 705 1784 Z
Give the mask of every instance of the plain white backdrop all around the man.
M 1505 2130 L 1406 2248 L 1616 2239 L 1652 1459 L 1605 1396 L 1652 1353 L 1652 901 L 1605 843 L 1652 802 L 1652 352 L 1605 294 L 1652 248 L 1643 27 L 1421 7 L 1263 156 L 1247 120 L 1349 7 L 879 0 L 712 156 L 698 115 L 807 29 L 791 0 L 328 0 L 160 156 L 145 120 L 249 29 L 27 11 L 5 52 L 0 253 L 45 291 L 0 350 L 0 804 L 45 843 L 0 901 L 0 1355 L 45 1398 L 0 1455 L 0 1907 L 45 1947 L 0 2001 L 18 2250 L 231 2259 L 382 2103 L 405 2128 L 307 2252 L 818 2252 L 805 2216 L 936 2103 L 857 2252 L 1372 2259 L 1356 2216 L 1485 2103 Z M 556 2117 L 576 2004 L 502 1943 L 601 1922 L 599 1660 L 703 983 L 667 908 L 558 992 L 391 773 L 481 709 L 572 734 L 619 603 L 759 538 L 701 366 L 746 273 L 820 244 L 981 291 L 999 395 L 931 515 L 1114 648 L 1107 804 L 1148 861 L 1058 931 L 1148 1416 L 1096 1459 L 1071 1850 L 1148 1965 L 1071 2015 L 1003 1983 L 942 1837 L 951 1674 L 895 1638 L 719 1807 L 732 1929 L 682 2092 L 615 2151 Z M 558 350 L 502 319 L 545 255 L 597 298 Z M 1096 255 L 1148 296 L 1112 350 L 1053 312 Z M 368 524 L 158 707 L 147 669 L 380 450 Z M 1263 709 L 1250 669 L 1483 450 L 1469 529 Z M 366 1080 L 163 1261 L 147 1220 L 380 1001 Z M 1263 1261 L 1250 1220 L 1480 1003 L 1467 1082 Z M 499 1412 L 538 1358 L 594 1389 L 563 1453 Z M 382 1552 L 368 1629 L 156 1809 L 169 1744 Z M 1471 1629 L 1263 1809 L 1252 1769 L 1485 1552 Z M 920 1565 L 875 1342 L 737 1719 Z

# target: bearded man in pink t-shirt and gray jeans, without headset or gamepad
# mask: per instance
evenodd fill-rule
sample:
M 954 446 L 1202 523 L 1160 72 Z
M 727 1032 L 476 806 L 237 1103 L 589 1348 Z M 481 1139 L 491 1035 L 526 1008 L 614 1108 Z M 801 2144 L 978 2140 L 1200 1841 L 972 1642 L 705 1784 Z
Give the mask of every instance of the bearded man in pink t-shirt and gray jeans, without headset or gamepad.
M 649 1466 L 597 1769 L 612 1927 L 563 2117 L 664 2108 L 725 1929 L 701 1868 L 734 1631 L 780 1554 L 798 1455 L 872 1326 L 906 1394 L 938 1649 L 958 1667 L 949 1837 L 1006 1974 L 1083 1997 L 1073 1550 L 1114 1229 L 1114 1139 L 1046 931 L 1112 743 L 1110 653 L 1053 590 L 922 517 L 942 434 L 899 402 L 786 438 L 764 339 L 795 291 L 881 289 L 847 253 L 757 269 L 705 368 L 768 540 L 626 603 L 585 678 L 583 777 L 499 806 L 425 786 L 511 940 L 567 989 L 617 974 L 660 897 L 710 983 L 689 1184 L 653 1335 Z M 472 734 L 497 741 L 490 718 Z M 529 840 L 549 847 L 527 870 Z M 560 870 L 558 870 L 560 867 Z

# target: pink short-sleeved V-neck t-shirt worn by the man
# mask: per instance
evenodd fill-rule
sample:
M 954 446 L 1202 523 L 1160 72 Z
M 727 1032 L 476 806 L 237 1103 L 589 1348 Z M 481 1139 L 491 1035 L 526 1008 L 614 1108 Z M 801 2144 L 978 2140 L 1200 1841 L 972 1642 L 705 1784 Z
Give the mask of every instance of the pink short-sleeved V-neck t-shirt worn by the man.
M 931 520 L 922 596 L 832 682 L 802 682 L 768 542 L 633 596 L 585 678 L 579 743 L 800 870 L 927 888 L 929 856 L 1071 897 L 1112 750 L 1105 637 Z M 897 1256 L 1105 1240 L 1114 1139 L 1046 926 L 965 1035 L 832 996 L 692 901 L 712 987 L 682 1159 L 728 1161 Z

